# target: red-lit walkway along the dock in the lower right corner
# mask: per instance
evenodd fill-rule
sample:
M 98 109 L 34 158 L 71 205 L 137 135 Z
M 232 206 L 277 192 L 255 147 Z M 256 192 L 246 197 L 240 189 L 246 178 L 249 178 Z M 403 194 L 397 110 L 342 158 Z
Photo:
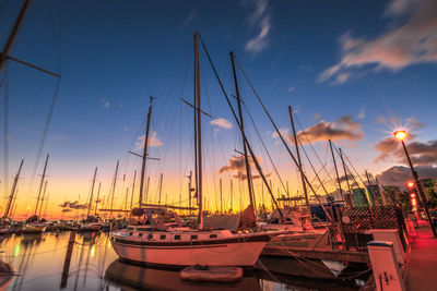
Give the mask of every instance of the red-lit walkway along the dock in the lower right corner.
M 420 227 L 416 233 L 405 270 L 406 289 L 437 290 L 437 239 L 429 227 Z

